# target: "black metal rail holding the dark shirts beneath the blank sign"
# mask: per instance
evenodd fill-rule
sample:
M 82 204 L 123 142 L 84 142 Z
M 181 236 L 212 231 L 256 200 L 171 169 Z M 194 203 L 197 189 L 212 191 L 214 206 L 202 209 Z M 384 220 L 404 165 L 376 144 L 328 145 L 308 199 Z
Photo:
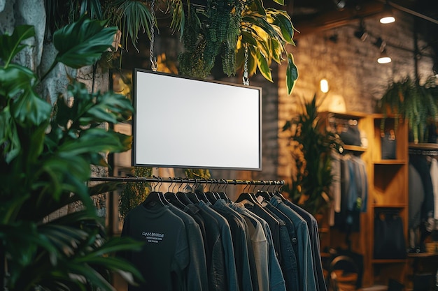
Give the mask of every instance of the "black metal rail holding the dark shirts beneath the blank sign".
M 162 177 L 91 177 L 90 181 L 115 182 L 155 182 L 155 183 L 186 183 L 186 184 L 222 184 L 222 185 L 264 185 L 283 186 L 284 180 L 227 180 L 227 179 L 193 179 L 193 178 L 162 178 Z

